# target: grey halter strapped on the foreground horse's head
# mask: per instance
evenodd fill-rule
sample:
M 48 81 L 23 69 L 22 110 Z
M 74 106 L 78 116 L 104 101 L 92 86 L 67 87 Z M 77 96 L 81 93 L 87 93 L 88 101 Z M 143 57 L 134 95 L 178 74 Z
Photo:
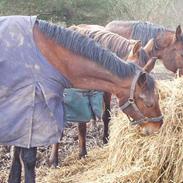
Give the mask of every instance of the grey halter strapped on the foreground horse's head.
M 139 119 L 139 120 L 131 119 L 130 116 L 126 114 L 132 125 L 137 125 L 137 124 L 139 125 L 139 124 L 142 124 L 146 121 L 150 121 L 150 122 L 153 122 L 153 123 L 158 123 L 163 119 L 163 116 L 152 117 L 152 118 L 145 117 L 142 114 L 142 112 L 139 110 L 137 105 L 135 104 L 135 100 L 134 100 L 135 86 L 136 86 L 136 83 L 137 83 L 141 73 L 142 73 L 141 71 L 138 71 L 137 74 L 135 75 L 135 77 L 132 81 L 131 88 L 130 88 L 130 97 L 128 98 L 128 100 L 123 105 L 120 106 L 120 109 L 122 111 L 124 111 L 129 106 L 132 106 L 133 109 L 135 110 L 135 112 L 140 113 L 140 115 L 142 116 L 142 119 Z

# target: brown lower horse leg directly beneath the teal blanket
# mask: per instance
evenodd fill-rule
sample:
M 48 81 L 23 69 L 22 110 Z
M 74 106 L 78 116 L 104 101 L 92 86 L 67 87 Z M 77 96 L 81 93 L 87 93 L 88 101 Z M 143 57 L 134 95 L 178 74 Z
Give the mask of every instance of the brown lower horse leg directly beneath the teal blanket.
M 78 123 L 79 138 L 79 158 L 87 155 L 86 151 L 86 123 Z

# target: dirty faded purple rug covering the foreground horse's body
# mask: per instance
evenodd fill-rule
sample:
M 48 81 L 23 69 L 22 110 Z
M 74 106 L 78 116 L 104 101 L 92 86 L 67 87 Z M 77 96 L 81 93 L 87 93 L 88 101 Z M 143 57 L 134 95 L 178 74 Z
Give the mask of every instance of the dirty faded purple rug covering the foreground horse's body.
M 64 127 L 63 90 L 69 81 L 33 39 L 36 17 L 0 17 L 0 144 L 47 146 Z

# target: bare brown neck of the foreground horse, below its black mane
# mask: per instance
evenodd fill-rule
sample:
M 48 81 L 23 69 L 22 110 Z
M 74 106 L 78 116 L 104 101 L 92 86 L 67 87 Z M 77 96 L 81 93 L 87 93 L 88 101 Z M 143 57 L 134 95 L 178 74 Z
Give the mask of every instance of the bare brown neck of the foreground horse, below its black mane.
M 117 94 L 130 87 L 132 78 L 119 78 L 87 58 L 74 54 L 55 41 L 48 39 L 34 28 L 34 39 L 43 56 L 60 73 L 65 75 L 73 87 L 94 89 Z

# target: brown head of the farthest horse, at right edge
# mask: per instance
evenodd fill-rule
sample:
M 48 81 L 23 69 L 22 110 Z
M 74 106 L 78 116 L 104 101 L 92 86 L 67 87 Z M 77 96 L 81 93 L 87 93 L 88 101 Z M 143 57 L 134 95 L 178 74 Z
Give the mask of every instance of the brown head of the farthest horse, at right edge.
M 157 38 L 149 40 L 144 49 L 150 55 L 156 52 L 158 59 L 173 73 L 183 69 L 183 35 L 180 25 L 175 32 L 160 33 Z M 179 74 L 183 75 L 182 72 Z

